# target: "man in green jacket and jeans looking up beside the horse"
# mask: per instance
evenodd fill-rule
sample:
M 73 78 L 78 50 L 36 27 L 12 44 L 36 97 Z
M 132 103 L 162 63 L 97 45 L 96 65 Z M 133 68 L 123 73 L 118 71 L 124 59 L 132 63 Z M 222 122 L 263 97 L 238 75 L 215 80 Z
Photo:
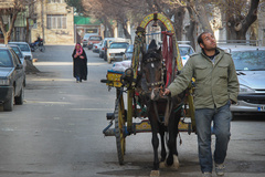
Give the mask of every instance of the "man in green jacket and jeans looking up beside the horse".
M 213 160 L 218 176 L 224 175 L 224 159 L 230 140 L 231 103 L 237 102 L 239 81 L 230 54 L 216 48 L 214 37 L 203 32 L 198 37 L 202 49 L 191 55 L 181 74 L 165 90 L 171 96 L 184 91 L 195 79 L 194 107 L 202 176 L 211 177 Z M 215 150 L 212 160 L 211 123 L 215 134 Z

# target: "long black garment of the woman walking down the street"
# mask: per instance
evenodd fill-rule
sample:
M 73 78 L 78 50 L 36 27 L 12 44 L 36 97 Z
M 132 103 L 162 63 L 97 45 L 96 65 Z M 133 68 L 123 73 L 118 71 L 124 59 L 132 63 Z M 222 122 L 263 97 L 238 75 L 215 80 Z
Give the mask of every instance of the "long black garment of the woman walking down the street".
M 80 76 L 81 80 L 87 80 L 87 58 L 86 58 L 86 53 L 83 50 L 83 53 L 81 54 L 82 56 L 84 56 L 84 59 L 81 59 L 78 55 L 77 58 L 74 58 L 76 53 L 76 50 L 74 50 L 72 58 L 73 58 L 73 76 Z

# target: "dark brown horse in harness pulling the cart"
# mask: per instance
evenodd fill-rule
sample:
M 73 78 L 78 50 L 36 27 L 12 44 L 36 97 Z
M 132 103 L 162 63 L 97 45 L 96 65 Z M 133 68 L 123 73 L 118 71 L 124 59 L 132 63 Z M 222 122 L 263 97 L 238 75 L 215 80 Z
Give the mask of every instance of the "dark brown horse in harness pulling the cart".
M 150 176 L 159 176 L 159 168 L 172 167 L 179 168 L 177 136 L 179 134 L 178 125 L 181 117 L 184 93 L 170 97 L 161 94 L 167 80 L 167 71 L 161 54 L 161 48 L 156 49 L 149 45 L 149 50 L 144 53 L 140 62 L 137 91 L 140 93 L 140 102 L 147 107 L 147 115 L 151 125 L 151 144 L 153 147 L 153 167 Z M 166 133 L 168 139 L 166 140 Z M 161 139 L 161 159 L 159 162 L 158 147 L 160 134 Z M 168 145 L 168 154 L 166 143 Z

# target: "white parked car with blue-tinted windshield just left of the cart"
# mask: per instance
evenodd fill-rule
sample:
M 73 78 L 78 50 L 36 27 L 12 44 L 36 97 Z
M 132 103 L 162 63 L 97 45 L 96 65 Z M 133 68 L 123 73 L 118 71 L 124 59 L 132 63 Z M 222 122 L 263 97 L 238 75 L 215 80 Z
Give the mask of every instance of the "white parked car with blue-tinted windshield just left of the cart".
M 112 42 L 107 50 L 107 62 L 112 63 L 112 61 L 123 61 L 128 45 L 128 42 Z

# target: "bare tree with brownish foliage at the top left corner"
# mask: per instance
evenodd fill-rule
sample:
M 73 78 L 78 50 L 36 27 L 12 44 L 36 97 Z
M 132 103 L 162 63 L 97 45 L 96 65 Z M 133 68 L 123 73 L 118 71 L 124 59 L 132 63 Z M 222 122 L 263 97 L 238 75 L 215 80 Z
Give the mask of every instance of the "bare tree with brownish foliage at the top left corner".
M 25 10 L 29 1 L 30 0 L 0 0 L 0 29 L 4 37 L 4 44 L 8 44 L 10 40 L 18 13 Z M 8 29 L 3 22 L 3 15 L 10 15 L 11 18 Z

